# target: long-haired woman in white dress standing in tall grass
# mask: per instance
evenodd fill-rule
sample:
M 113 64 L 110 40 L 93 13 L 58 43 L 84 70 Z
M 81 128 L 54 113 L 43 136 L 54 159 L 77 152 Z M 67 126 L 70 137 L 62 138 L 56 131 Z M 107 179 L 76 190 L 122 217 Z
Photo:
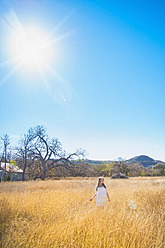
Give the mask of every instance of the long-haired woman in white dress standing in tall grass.
M 108 201 L 110 202 L 109 194 L 108 194 L 108 191 L 107 191 L 107 186 L 104 184 L 104 178 L 103 177 L 99 177 L 98 184 L 96 186 L 96 193 L 90 199 L 90 201 L 92 201 L 96 196 L 97 196 L 97 199 L 96 199 L 96 205 L 97 206 L 101 206 L 101 207 L 105 206 L 105 204 L 106 204 L 106 196 L 108 198 Z

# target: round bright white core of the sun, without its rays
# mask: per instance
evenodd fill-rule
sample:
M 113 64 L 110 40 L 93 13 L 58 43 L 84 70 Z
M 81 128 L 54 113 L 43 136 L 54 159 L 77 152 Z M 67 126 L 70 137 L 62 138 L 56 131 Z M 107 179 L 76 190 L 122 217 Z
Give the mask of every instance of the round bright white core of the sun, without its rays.
M 45 68 L 53 60 L 54 48 L 39 28 L 24 27 L 10 35 L 9 53 L 20 67 L 27 70 Z

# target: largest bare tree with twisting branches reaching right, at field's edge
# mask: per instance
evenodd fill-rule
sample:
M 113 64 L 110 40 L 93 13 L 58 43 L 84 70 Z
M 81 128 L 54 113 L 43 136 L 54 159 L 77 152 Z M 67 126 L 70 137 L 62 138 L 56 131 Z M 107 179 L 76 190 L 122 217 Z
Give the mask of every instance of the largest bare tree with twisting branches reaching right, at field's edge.
M 61 165 L 64 167 L 72 166 L 75 157 L 84 156 L 82 149 L 67 154 L 62 150 L 61 142 L 57 138 L 50 138 L 43 126 L 31 128 L 30 132 L 33 135 L 31 147 L 33 164 L 37 164 L 39 168 L 36 170 L 36 177 L 40 177 L 42 180 L 45 180 L 51 169 Z

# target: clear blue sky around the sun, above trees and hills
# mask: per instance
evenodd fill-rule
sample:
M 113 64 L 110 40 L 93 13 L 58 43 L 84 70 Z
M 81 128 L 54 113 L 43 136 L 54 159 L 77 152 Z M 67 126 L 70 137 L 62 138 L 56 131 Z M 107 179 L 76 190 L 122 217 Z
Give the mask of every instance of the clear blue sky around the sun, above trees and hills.
M 14 143 L 39 124 L 91 159 L 165 161 L 164 12 L 163 1 L 1 0 L 0 135 Z M 13 16 L 51 34 L 51 71 L 5 64 Z

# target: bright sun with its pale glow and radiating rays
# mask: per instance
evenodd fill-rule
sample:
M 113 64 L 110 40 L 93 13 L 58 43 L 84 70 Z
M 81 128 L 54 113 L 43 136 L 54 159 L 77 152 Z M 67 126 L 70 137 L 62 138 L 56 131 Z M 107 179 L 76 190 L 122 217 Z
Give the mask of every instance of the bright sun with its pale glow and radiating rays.
M 74 30 L 61 34 L 60 27 L 69 18 L 67 15 L 55 25 L 49 23 L 23 22 L 14 11 L 10 11 L 0 20 L 0 87 L 12 77 L 26 87 L 42 85 L 53 98 L 68 102 L 71 90 L 68 82 L 59 75 L 57 68 L 61 66 L 65 53 L 67 37 Z

